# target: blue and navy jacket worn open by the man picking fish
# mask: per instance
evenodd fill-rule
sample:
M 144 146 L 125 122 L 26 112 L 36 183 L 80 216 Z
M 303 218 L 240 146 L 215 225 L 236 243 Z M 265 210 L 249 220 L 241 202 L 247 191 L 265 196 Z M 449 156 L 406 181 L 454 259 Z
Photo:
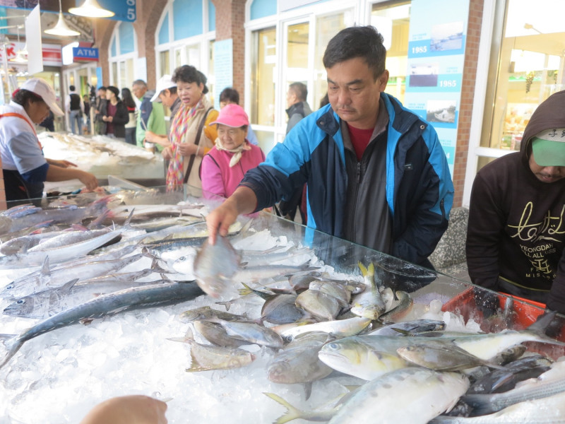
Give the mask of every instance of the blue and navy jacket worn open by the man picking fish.
M 381 93 L 381 100 L 389 117 L 385 184 L 393 242 L 392 252 L 384 253 L 430 266 L 427 257 L 447 228 L 453 204 L 446 155 L 430 124 L 391 95 Z M 374 142 L 359 162 L 344 145 L 340 118 L 326 105 L 302 119 L 241 185 L 255 192 L 259 211 L 307 183 L 310 228 L 373 248 L 371 237 L 379 237 L 371 231 L 375 205 L 359 199 L 367 199 L 379 175 L 371 157 Z M 348 194 L 355 201 L 347 202 Z

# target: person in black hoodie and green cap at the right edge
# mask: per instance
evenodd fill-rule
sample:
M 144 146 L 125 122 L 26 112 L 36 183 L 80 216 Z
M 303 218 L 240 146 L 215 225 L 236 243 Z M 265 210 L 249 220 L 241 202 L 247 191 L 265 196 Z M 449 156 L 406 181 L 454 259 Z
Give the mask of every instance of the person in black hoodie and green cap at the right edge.
M 477 172 L 467 231 L 471 281 L 565 313 L 565 91 L 542 102 L 520 151 Z M 476 290 L 485 314 L 498 297 Z

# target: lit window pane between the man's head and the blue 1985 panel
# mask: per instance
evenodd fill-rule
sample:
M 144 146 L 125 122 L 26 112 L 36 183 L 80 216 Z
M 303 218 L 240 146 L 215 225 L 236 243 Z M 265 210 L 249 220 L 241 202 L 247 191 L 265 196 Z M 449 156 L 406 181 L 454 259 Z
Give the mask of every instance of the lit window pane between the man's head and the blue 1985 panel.
M 371 25 L 383 35 L 386 46 L 386 69 L 390 73 L 386 93 L 404 102 L 406 69 L 408 67 L 408 30 L 410 29 L 410 1 L 393 5 L 374 4 Z

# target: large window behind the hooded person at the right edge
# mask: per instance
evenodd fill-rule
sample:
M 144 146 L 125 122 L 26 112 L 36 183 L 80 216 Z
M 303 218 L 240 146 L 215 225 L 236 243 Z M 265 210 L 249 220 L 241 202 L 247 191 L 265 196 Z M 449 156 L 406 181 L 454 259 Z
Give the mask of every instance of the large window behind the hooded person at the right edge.
M 564 1 L 539 0 L 533 6 L 506 0 L 498 66 L 489 73 L 494 98 L 485 103 L 482 147 L 520 150 L 537 105 L 565 88 L 564 15 Z

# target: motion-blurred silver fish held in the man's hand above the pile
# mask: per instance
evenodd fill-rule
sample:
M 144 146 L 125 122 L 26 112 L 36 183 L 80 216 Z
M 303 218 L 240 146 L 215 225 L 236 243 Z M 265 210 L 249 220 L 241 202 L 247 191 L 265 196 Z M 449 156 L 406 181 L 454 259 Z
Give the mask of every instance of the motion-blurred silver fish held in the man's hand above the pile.
M 239 270 L 241 259 L 226 237 L 218 235 L 214 245 L 204 242 L 194 259 L 196 283 L 213 298 L 234 293 L 230 278 Z

